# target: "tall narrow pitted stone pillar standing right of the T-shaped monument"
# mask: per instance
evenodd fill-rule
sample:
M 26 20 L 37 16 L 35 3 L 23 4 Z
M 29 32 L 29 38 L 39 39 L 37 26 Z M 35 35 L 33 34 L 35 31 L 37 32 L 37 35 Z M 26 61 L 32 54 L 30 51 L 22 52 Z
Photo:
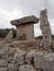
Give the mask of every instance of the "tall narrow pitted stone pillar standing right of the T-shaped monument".
M 40 12 L 40 28 L 42 31 L 42 45 L 44 49 L 51 50 L 52 32 L 47 20 L 47 10 L 41 10 Z

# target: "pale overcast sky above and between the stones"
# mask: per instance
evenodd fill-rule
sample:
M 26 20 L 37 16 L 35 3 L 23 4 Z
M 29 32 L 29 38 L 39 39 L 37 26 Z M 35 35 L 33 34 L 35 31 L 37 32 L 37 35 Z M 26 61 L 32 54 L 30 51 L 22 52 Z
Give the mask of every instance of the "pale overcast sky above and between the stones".
M 54 0 L 0 0 L 0 28 L 11 28 L 11 20 L 26 15 L 40 17 L 40 11 L 47 9 L 48 21 L 54 34 Z M 40 23 L 34 25 L 34 36 L 41 35 Z

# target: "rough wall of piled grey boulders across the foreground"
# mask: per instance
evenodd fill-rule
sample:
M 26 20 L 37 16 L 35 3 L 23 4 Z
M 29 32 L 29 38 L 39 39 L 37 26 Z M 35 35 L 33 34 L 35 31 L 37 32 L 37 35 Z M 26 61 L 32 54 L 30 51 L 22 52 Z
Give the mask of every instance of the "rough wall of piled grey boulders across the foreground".
M 31 50 L 0 50 L 0 71 L 54 71 L 54 54 Z

